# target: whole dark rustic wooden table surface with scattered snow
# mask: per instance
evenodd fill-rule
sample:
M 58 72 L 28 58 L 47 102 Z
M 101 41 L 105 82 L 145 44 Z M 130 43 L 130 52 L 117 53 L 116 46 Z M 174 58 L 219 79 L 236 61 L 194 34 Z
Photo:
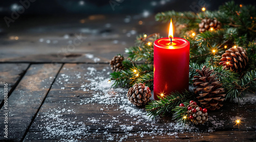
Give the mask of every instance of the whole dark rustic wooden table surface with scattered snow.
M 149 119 L 143 107 L 127 101 L 127 89 L 110 87 L 114 55 L 138 34 L 165 33 L 168 25 L 154 16 L 46 19 L 53 22 L 17 21 L 0 38 L 1 131 L 8 112 L 8 138 L 1 132 L 0 141 L 256 141 L 255 94 L 209 112 L 202 126 L 182 127 L 171 117 Z

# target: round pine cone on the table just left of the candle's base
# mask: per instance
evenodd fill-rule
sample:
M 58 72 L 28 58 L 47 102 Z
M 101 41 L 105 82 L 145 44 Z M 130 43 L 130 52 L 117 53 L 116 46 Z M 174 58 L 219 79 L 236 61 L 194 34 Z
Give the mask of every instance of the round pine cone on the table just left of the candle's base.
M 129 89 L 126 96 L 134 105 L 140 106 L 150 101 L 152 95 L 150 88 L 145 87 L 143 83 L 135 83 L 134 86 Z

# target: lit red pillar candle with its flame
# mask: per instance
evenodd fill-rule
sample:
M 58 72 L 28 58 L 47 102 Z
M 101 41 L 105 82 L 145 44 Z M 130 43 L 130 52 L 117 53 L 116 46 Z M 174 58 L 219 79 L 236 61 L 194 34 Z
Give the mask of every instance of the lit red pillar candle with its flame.
M 169 37 L 154 42 L 154 99 L 188 90 L 188 73 L 189 42 L 173 37 L 171 20 Z

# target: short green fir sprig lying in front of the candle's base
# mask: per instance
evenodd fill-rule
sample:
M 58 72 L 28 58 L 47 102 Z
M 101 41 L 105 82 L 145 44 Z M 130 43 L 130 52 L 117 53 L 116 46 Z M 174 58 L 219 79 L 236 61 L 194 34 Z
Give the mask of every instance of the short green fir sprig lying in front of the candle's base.
M 188 91 L 184 91 L 183 93 L 171 93 L 164 98 L 159 98 L 159 101 L 155 100 L 148 103 L 148 105 L 145 106 L 147 115 L 150 116 L 150 118 L 155 118 L 160 114 L 164 116 L 167 112 L 172 112 L 174 107 L 180 103 L 186 100 L 194 100 L 194 96 L 194 92 Z

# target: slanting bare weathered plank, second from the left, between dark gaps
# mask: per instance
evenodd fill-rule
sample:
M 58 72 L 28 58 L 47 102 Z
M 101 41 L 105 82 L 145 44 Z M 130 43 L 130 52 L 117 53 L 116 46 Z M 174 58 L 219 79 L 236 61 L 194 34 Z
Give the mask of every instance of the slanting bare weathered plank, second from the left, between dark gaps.
M 6 126 L 8 119 L 8 138 L 0 133 L 0 139 L 20 141 L 46 97 L 51 84 L 59 71 L 60 64 L 31 65 L 23 79 L 8 98 L 8 105 L 0 110 L 0 129 Z M 8 113 L 6 118 L 3 114 Z

